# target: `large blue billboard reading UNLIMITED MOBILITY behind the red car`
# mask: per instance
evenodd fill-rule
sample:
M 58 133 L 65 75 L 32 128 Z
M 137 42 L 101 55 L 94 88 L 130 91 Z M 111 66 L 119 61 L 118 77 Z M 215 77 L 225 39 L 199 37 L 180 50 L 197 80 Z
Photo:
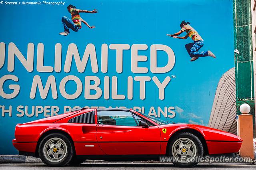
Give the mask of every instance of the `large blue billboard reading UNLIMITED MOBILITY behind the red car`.
M 127 107 L 207 125 L 234 67 L 232 0 L 1 1 L 0 154 L 17 123 Z

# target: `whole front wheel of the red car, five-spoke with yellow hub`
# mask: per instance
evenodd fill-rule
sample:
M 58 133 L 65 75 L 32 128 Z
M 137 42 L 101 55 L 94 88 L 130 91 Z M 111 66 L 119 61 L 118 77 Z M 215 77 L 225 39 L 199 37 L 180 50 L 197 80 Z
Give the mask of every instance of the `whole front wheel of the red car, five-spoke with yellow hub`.
M 200 139 L 188 132 L 175 135 L 169 145 L 172 163 L 178 167 L 193 167 L 200 162 L 204 147 Z

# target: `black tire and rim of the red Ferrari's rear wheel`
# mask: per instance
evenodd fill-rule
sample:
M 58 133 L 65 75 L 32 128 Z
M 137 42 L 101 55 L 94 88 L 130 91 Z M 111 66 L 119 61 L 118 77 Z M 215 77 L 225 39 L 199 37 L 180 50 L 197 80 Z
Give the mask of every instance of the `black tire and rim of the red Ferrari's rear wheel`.
M 63 147 L 63 149 L 62 149 L 63 154 L 57 155 L 57 157 L 59 157 L 59 160 L 58 160 L 58 158 L 57 159 L 54 158 L 52 153 L 50 153 L 50 154 L 52 154 L 52 155 L 50 155 L 46 151 L 46 150 L 48 150 L 48 148 L 50 148 L 50 146 L 48 145 L 48 142 L 50 142 L 51 140 L 56 140 L 56 141 L 58 140 L 62 143 L 62 145 L 60 144 L 59 149 L 62 149 L 61 147 Z M 53 142 L 53 144 L 54 144 L 54 142 Z M 59 145 L 59 143 L 56 143 L 56 142 L 55 142 L 55 144 L 56 144 L 56 146 L 57 146 L 57 144 Z M 53 147 L 58 148 L 58 146 L 57 147 L 56 146 L 53 146 Z M 52 150 L 52 149 L 49 149 L 49 152 L 50 152 L 50 150 Z M 60 150 L 59 151 L 57 150 L 57 152 L 60 152 Z M 42 141 L 40 142 L 39 148 L 38 148 L 38 153 L 39 153 L 41 160 L 48 166 L 65 166 L 66 164 L 68 164 L 71 161 L 71 159 L 74 155 L 74 147 L 66 135 L 61 134 L 61 133 L 52 133 L 52 134 L 48 134 L 47 136 L 45 136 L 42 139 Z M 56 160 L 54 160 L 54 159 L 56 159 Z

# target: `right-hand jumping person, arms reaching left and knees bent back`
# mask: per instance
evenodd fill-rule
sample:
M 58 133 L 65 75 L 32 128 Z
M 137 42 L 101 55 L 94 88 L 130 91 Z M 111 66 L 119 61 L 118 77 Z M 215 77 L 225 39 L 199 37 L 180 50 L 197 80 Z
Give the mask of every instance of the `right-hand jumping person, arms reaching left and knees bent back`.
M 204 45 L 204 40 L 198 34 L 198 32 L 194 28 L 192 28 L 192 26 L 190 26 L 189 24 L 190 24 L 189 22 L 182 21 L 180 24 L 181 30 L 175 34 L 167 34 L 167 36 L 170 36 L 172 38 L 179 38 L 179 39 L 187 39 L 188 37 L 190 37 L 194 41 L 194 43 L 188 43 L 185 45 L 188 51 L 188 54 L 191 57 L 190 61 L 195 61 L 196 59 L 198 59 L 198 57 L 206 57 L 206 56 L 216 58 L 214 53 L 212 53 L 212 51 L 210 50 L 199 52 L 199 49 Z M 183 32 L 187 33 L 186 36 L 177 37 Z

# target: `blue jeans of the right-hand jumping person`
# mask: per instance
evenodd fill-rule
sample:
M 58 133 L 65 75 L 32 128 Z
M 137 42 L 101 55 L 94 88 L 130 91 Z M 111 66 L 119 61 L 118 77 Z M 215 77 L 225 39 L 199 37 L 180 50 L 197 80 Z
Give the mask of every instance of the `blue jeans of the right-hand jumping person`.
M 188 43 L 185 45 L 185 48 L 188 51 L 188 54 L 190 57 L 205 57 L 208 56 L 208 51 L 201 51 L 199 52 L 199 49 L 204 46 L 203 40 L 195 41 L 194 43 Z

